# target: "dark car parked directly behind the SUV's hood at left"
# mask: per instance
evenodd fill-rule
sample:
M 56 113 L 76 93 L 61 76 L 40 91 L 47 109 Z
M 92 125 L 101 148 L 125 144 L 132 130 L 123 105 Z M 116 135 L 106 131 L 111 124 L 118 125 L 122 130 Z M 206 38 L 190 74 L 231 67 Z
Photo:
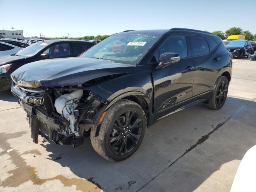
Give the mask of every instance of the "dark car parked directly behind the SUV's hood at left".
M 15 55 L 2 56 L 0 57 L 0 91 L 11 88 L 10 74 L 24 64 L 48 58 L 75 57 L 94 45 L 79 40 L 45 40 L 32 44 Z

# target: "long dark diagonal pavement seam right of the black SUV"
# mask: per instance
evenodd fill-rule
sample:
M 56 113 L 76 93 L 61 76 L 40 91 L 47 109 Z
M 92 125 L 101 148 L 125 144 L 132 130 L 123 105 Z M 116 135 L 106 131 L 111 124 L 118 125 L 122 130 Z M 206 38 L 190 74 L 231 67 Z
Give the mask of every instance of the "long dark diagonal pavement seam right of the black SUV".
M 180 158 L 182 158 L 183 156 L 185 156 L 188 152 L 190 152 L 192 149 L 196 148 L 196 146 L 198 146 L 199 144 L 202 144 L 203 142 L 205 142 L 209 136 L 211 134 L 213 134 L 216 130 L 218 130 L 221 126 L 223 126 L 226 122 L 228 122 L 232 117 L 236 116 L 237 114 L 239 114 L 242 110 L 244 110 L 244 108 L 246 108 L 246 106 L 248 106 L 251 102 L 253 101 L 249 101 L 247 104 L 245 104 L 244 106 L 238 108 L 238 110 L 236 110 L 236 112 L 234 114 L 232 114 L 231 116 L 229 116 L 224 122 L 219 123 L 211 132 L 209 132 L 208 134 L 202 136 L 197 142 L 196 144 L 192 145 L 190 148 L 188 148 L 180 157 L 178 157 L 176 160 L 174 160 L 174 162 L 172 162 L 168 167 L 166 167 L 164 170 L 162 170 L 160 173 L 158 173 L 156 176 L 154 176 L 151 180 L 149 180 L 146 184 L 144 184 L 141 188 L 139 188 L 136 192 L 140 191 L 142 188 L 144 188 L 146 185 L 148 185 L 150 182 L 152 182 L 155 178 L 157 178 L 160 174 L 162 174 L 165 170 L 167 170 L 168 168 L 170 168 L 174 163 L 176 163 Z

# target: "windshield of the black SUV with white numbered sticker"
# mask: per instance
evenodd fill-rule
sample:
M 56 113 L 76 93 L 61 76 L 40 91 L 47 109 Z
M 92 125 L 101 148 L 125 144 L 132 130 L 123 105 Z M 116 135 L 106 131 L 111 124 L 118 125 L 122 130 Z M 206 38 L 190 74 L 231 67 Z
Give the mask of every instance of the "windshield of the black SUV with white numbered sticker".
M 94 45 L 80 56 L 135 65 L 158 37 L 159 35 L 155 34 L 116 34 Z

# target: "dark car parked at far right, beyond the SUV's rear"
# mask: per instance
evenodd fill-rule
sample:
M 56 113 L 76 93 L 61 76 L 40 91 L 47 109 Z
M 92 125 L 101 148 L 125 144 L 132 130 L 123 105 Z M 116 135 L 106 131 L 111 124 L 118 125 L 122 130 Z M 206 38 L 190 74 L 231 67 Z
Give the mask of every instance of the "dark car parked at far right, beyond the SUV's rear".
M 253 53 L 252 44 L 246 40 L 233 40 L 226 45 L 226 48 L 233 57 L 243 58 Z

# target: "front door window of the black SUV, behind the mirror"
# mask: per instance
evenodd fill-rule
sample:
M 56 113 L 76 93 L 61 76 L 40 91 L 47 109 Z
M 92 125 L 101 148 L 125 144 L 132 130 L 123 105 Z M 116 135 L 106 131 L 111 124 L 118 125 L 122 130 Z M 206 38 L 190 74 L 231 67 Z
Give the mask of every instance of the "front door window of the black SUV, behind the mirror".
M 165 52 L 178 53 L 180 58 L 188 57 L 186 36 L 171 35 L 158 48 L 150 62 L 159 61 L 160 55 Z

